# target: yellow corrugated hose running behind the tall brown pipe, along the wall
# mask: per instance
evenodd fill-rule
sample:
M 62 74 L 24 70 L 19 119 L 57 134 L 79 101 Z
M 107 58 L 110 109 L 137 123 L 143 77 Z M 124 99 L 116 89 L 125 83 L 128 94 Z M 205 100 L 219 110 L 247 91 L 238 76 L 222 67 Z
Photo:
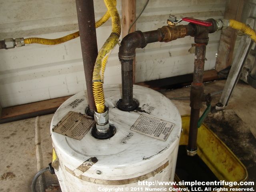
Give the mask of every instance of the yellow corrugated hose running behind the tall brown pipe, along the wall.
M 116 0 L 111 0 L 111 1 L 113 2 L 114 6 L 116 6 Z M 110 12 L 107 10 L 105 15 L 95 23 L 95 27 L 98 28 L 99 26 L 104 24 L 109 18 L 110 18 Z M 32 38 L 24 39 L 24 44 L 37 43 L 37 44 L 43 44 L 43 45 L 57 45 L 57 44 L 61 44 L 69 40 L 72 40 L 74 38 L 77 38 L 79 36 L 80 36 L 79 31 L 77 31 L 75 33 L 72 33 L 57 39 L 45 39 L 45 38 L 32 37 Z

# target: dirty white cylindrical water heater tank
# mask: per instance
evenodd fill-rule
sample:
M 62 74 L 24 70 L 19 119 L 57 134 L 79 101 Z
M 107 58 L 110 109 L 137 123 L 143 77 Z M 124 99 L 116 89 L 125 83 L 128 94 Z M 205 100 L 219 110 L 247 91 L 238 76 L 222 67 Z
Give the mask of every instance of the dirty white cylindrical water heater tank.
M 109 123 L 115 128 L 108 139 L 94 138 L 91 127 L 84 127 L 88 132 L 80 140 L 52 131 L 69 112 L 85 114 L 86 91 L 66 100 L 54 114 L 51 134 L 58 157 L 54 168 L 62 192 L 169 191 L 172 187 L 160 182 L 174 180 L 181 133 L 177 108 L 159 92 L 134 85 L 139 107 L 125 112 L 116 107 L 121 92 L 119 84 L 104 86 Z M 74 127 L 65 126 L 66 130 Z

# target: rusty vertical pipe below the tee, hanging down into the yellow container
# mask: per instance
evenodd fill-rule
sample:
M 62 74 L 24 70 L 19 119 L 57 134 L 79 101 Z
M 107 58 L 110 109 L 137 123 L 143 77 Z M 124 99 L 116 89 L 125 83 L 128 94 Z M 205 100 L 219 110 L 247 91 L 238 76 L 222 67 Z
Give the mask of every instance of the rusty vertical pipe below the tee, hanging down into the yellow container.
M 202 108 L 204 85 L 203 85 L 203 74 L 204 74 L 204 62 L 206 54 L 206 44 L 196 44 L 196 53 L 194 61 L 194 76 L 190 90 L 190 128 L 188 137 L 187 154 L 194 156 L 197 151 L 196 140 L 197 140 L 197 122 L 199 120 L 200 108 Z

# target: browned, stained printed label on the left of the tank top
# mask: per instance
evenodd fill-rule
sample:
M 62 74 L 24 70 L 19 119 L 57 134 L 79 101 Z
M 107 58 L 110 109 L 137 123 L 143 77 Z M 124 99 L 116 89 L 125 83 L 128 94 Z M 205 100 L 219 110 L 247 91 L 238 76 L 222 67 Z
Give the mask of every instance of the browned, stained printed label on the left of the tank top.
M 92 128 L 94 118 L 74 111 L 68 112 L 52 129 L 53 132 L 81 140 Z

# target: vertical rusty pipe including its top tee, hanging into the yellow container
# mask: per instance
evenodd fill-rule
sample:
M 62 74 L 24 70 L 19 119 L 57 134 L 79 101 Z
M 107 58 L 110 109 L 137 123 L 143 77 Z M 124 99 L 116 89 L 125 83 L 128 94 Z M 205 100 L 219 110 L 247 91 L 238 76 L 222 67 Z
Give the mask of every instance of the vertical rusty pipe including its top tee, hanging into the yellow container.
M 209 33 L 213 33 L 218 30 L 218 23 L 214 19 L 208 19 L 207 21 L 212 23 L 212 26 L 198 26 L 199 27 L 194 35 L 194 42 L 196 43 L 196 52 L 194 60 L 194 75 L 193 82 L 190 88 L 190 128 L 188 136 L 188 146 L 186 151 L 188 156 L 194 156 L 197 153 L 197 133 L 198 133 L 198 120 L 200 115 L 200 109 L 202 108 L 202 102 L 204 98 L 204 62 L 206 54 L 206 45 L 208 44 Z

